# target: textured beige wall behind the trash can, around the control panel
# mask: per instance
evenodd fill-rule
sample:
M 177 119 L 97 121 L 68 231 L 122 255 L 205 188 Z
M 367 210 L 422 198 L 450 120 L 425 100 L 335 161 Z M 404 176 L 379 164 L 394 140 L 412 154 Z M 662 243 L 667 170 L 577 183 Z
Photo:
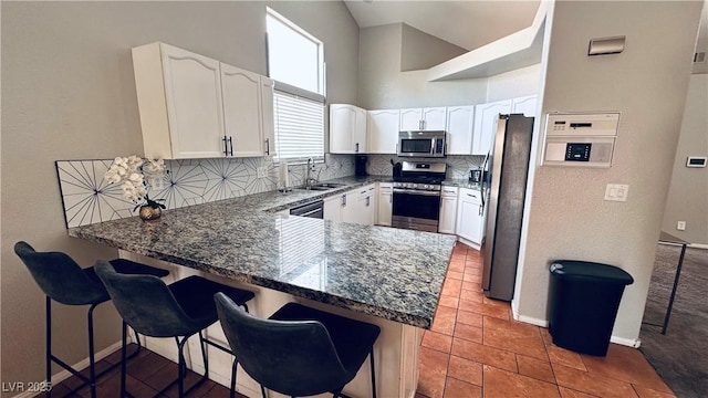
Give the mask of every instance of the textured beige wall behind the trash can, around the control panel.
M 543 113 L 607 109 L 622 117 L 611 168 L 535 169 L 513 302 L 523 318 L 548 318 L 552 260 L 597 261 L 634 276 L 613 334 L 626 342 L 637 338 L 701 4 L 555 3 Z M 623 53 L 586 55 L 590 39 L 613 35 L 626 35 Z M 626 202 L 603 201 L 610 182 L 629 185 Z

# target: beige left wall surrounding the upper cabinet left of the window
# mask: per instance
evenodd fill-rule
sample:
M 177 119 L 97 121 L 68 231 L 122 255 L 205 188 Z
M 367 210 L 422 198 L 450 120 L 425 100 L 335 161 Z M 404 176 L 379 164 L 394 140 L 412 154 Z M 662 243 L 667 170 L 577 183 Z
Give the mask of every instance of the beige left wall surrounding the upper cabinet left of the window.
M 1 2 L 2 381 L 44 378 L 44 297 L 18 240 L 82 264 L 116 255 L 66 235 L 54 160 L 142 154 L 131 48 L 164 41 L 266 73 L 266 2 Z M 356 101 L 358 27 L 342 2 L 273 2 L 325 44 L 329 97 Z M 85 307 L 54 306 L 56 354 L 86 357 Z M 119 339 L 111 304 L 96 347 Z M 58 368 L 55 368 L 58 371 Z

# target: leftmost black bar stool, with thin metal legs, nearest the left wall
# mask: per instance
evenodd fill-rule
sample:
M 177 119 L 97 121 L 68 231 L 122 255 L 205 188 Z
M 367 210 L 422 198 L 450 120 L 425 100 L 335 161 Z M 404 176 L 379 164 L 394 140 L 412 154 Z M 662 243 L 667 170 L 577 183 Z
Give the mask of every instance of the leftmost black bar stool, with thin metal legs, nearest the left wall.
M 103 283 L 96 276 L 93 266 L 82 269 L 71 256 L 62 252 L 38 252 L 24 241 L 14 244 L 14 252 L 27 265 L 32 277 L 46 296 L 45 325 L 46 325 L 46 383 L 52 380 L 52 363 L 55 363 L 79 377 L 83 383 L 71 392 L 83 388 L 86 384 L 91 386 L 91 397 L 96 396 L 96 379 L 105 373 L 112 370 L 116 365 L 96 375 L 95 353 L 93 338 L 93 311 L 101 303 L 111 297 Z M 111 260 L 111 264 L 121 273 L 148 274 L 155 277 L 163 277 L 169 271 L 158 268 L 136 263 L 129 260 Z M 52 301 L 65 305 L 90 305 L 87 314 L 88 324 L 88 377 L 80 374 L 79 370 L 58 358 L 52 354 Z M 138 348 L 131 357 L 137 355 Z M 51 396 L 51 389 L 48 392 Z

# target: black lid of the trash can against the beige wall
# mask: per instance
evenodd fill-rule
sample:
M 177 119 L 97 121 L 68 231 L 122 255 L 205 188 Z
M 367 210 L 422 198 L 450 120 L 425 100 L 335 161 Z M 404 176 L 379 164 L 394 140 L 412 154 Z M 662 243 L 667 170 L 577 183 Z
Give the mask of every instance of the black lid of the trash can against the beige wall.
M 590 261 L 558 260 L 551 263 L 551 274 L 569 281 L 597 281 L 629 285 L 634 279 L 626 271 Z

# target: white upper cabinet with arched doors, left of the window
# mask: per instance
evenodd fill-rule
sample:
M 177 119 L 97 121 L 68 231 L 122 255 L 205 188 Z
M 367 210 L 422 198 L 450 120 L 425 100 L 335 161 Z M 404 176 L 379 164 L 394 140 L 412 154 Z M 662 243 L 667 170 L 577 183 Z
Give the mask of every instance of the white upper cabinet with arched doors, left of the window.
M 266 155 L 262 76 L 165 43 L 134 48 L 133 67 L 145 156 Z

